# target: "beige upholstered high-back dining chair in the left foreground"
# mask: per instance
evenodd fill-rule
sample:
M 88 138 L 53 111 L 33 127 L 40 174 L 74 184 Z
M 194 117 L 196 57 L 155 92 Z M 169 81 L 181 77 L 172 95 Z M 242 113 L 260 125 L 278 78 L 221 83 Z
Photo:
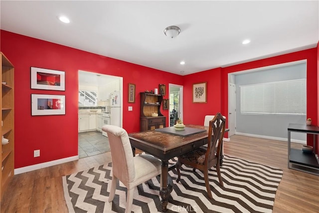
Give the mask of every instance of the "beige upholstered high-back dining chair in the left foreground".
M 133 157 L 128 133 L 120 127 L 104 125 L 102 130 L 108 134 L 112 156 L 112 184 L 109 202 L 115 195 L 117 180 L 128 189 L 125 213 L 131 213 L 134 189 L 161 174 L 161 162 L 151 155 Z

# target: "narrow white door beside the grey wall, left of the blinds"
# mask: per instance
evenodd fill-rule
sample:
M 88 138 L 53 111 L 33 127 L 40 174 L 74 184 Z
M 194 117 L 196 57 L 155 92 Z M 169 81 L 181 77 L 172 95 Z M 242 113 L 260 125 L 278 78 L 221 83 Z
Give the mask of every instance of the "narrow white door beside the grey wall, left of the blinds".
M 228 84 L 228 137 L 236 132 L 236 85 Z

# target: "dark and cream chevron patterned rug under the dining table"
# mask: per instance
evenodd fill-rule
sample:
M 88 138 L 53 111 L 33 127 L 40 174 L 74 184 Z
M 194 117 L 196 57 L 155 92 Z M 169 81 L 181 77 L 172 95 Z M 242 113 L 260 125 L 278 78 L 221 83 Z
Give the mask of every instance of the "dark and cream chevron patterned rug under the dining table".
M 175 164 L 176 158 L 170 160 Z M 169 171 L 173 191 L 168 198 L 167 213 L 272 212 L 275 194 L 283 171 L 228 155 L 221 167 L 224 187 L 219 186 L 215 169 L 209 171 L 213 199 L 207 197 L 202 172 L 182 166 L 176 183 L 176 169 Z M 70 213 L 124 213 L 126 188 L 120 182 L 112 203 L 108 196 L 112 180 L 112 163 L 62 177 L 64 197 Z M 160 177 L 138 186 L 134 191 L 132 212 L 158 213 Z

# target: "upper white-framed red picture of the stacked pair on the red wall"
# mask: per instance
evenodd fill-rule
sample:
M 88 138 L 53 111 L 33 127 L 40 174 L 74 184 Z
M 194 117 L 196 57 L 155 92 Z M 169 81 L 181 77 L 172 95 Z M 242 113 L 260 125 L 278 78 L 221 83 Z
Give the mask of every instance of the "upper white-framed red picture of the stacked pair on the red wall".
M 65 91 L 65 72 L 31 66 L 31 89 Z

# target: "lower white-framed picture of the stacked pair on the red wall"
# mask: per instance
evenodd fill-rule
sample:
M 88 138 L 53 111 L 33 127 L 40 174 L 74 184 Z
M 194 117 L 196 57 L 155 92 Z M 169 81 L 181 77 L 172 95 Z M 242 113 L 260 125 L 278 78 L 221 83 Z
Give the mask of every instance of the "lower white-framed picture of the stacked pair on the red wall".
M 31 115 L 65 115 L 65 95 L 31 94 Z

